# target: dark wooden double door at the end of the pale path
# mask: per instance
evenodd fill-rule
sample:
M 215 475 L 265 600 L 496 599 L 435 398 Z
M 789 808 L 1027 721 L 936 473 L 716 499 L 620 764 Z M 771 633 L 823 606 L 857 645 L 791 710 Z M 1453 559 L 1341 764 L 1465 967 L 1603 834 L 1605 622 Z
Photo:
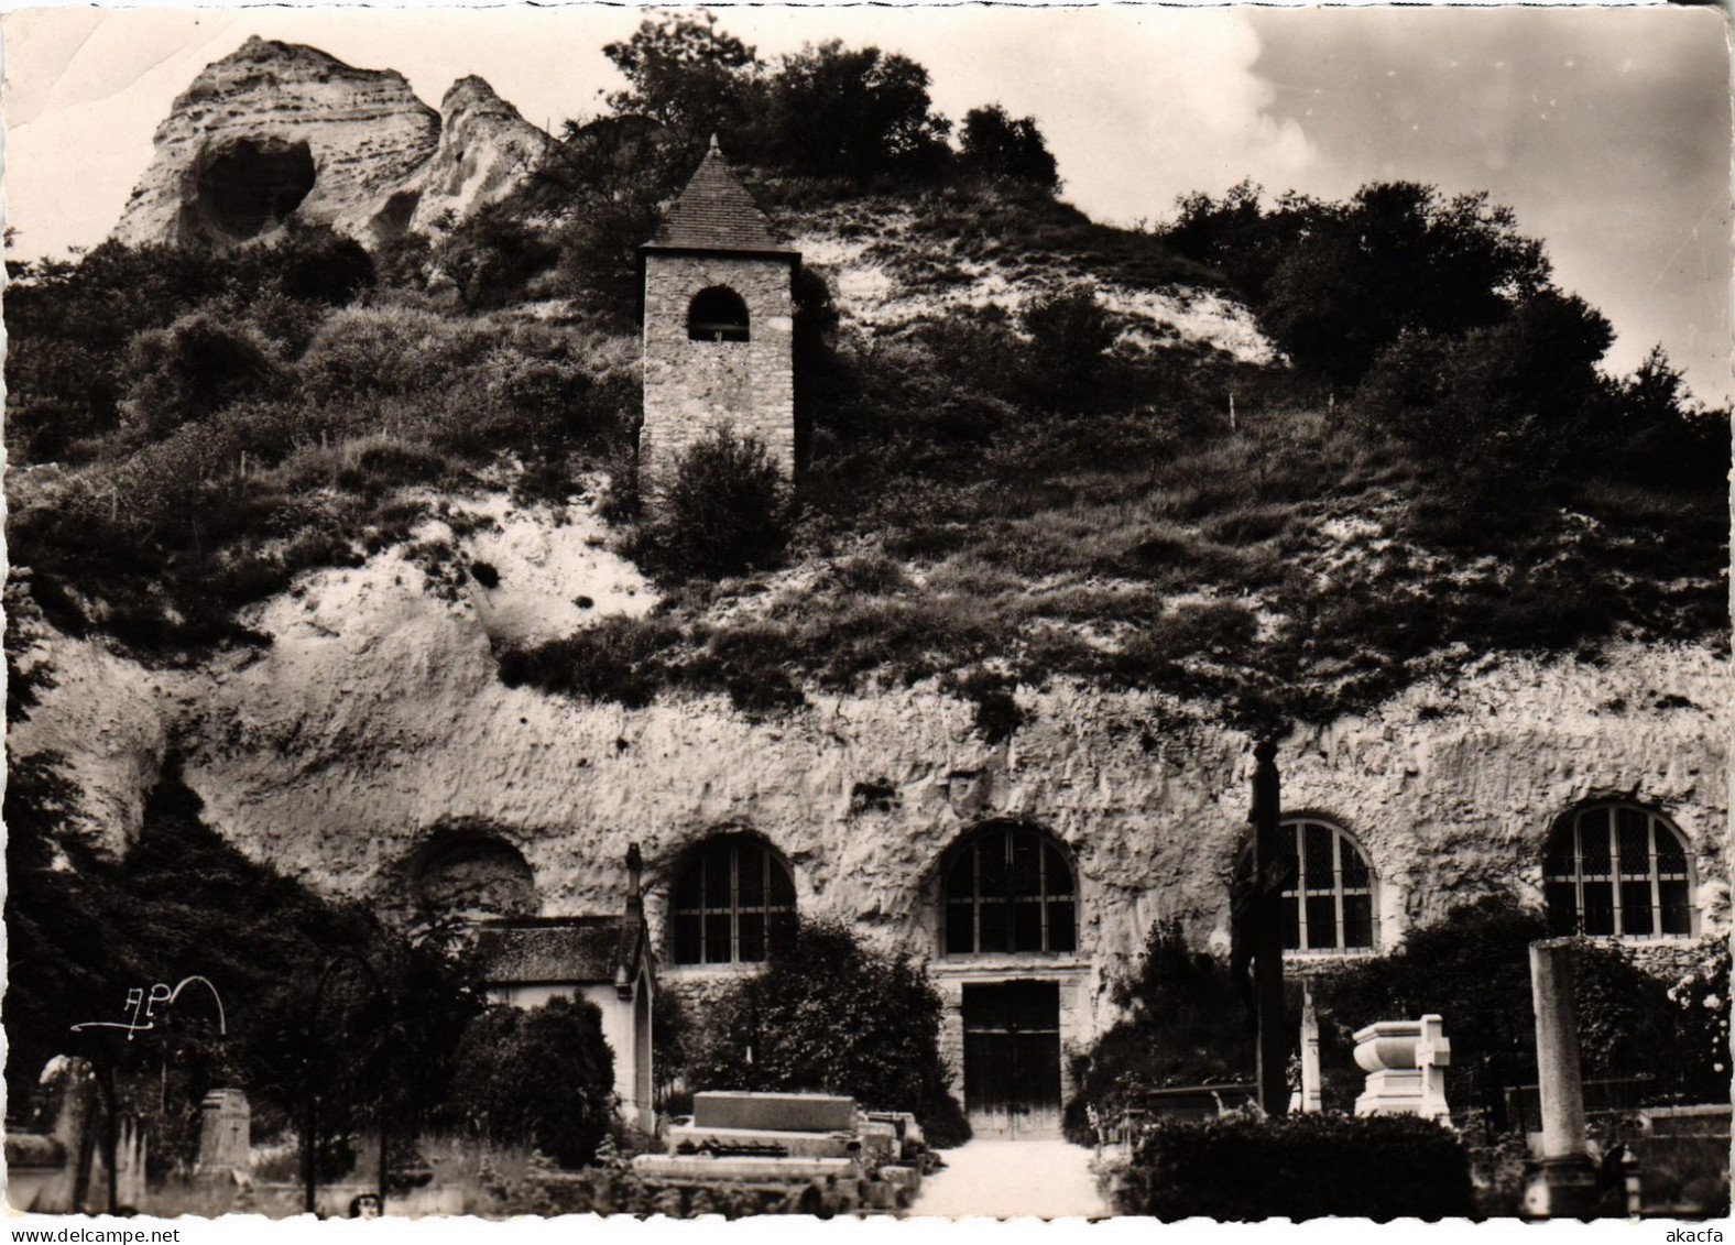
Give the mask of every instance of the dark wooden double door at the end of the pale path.
M 977 1136 L 1060 1136 L 1060 983 L 965 985 L 965 1110 Z

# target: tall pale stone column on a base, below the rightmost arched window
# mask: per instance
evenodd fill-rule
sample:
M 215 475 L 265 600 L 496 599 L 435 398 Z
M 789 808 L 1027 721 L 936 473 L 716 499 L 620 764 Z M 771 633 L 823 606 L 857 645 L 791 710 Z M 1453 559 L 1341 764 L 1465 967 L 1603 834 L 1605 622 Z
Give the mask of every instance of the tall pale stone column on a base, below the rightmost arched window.
M 1530 1006 L 1535 1009 L 1542 1162 L 1525 1190 L 1523 1212 L 1539 1219 L 1588 1216 L 1596 1203 L 1596 1167 L 1584 1146 L 1572 940 L 1530 943 Z

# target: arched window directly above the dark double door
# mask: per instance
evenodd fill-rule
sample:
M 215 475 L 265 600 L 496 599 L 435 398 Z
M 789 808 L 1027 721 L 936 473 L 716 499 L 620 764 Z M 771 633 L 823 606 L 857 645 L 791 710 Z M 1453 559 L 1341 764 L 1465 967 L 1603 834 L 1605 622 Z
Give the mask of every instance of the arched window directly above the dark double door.
M 946 862 L 946 954 L 1077 950 L 1077 886 L 1041 831 L 989 825 Z

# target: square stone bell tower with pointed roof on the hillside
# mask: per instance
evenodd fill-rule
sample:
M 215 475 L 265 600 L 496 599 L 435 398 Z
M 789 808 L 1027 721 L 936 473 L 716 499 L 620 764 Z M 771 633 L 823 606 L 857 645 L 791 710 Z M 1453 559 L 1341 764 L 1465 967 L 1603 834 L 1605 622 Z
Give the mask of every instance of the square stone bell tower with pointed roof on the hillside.
M 654 496 L 682 449 L 718 427 L 795 473 L 795 267 L 711 139 L 640 248 L 645 271 L 638 486 Z

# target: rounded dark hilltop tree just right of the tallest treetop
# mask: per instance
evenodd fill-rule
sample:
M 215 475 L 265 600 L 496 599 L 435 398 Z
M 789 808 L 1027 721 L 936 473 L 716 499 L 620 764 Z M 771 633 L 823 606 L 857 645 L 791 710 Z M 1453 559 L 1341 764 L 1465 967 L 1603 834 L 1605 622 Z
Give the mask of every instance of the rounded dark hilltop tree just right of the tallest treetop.
M 925 173 L 946 160 L 949 123 L 932 111 L 928 71 L 876 47 L 809 43 L 770 78 L 770 153 L 791 172 Z

